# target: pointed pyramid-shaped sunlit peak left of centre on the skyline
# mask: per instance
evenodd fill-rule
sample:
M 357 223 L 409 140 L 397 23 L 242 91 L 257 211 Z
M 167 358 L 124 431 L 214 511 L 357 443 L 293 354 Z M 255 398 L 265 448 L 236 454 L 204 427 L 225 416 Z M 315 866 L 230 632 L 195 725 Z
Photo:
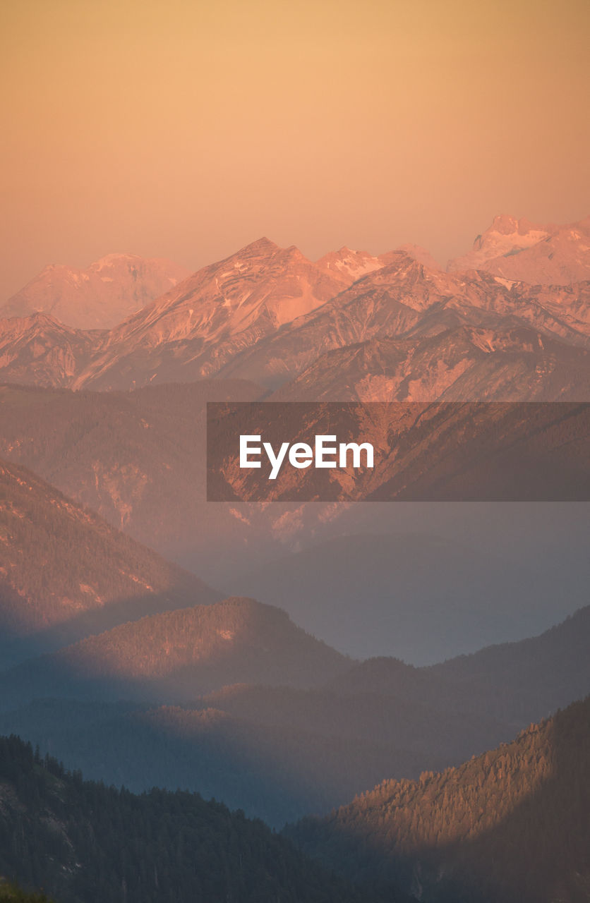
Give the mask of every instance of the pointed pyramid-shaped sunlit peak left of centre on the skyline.
M 327 273 L 295 246 L 259 238 L 120 323 L 76 387 L 90 381 L 118 387 L 119 373 L 130 367 L 138 368 L 136 385 L 214 375 L 240 351 L 314 311 L 351 281 Z M 180 371 L 179 358 L 185 364 Z

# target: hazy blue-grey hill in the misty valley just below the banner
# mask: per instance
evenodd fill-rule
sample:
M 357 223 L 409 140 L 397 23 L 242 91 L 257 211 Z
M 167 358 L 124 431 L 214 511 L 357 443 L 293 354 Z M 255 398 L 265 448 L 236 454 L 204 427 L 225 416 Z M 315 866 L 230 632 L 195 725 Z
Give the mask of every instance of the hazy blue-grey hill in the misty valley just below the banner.
M 564 619 L 587 599 L 590 566 L 580 569 L 509 560 L 438 532 L 367 532 L 316 541 L 220 589 L 280 605 L 356 658 L 434 664 Z

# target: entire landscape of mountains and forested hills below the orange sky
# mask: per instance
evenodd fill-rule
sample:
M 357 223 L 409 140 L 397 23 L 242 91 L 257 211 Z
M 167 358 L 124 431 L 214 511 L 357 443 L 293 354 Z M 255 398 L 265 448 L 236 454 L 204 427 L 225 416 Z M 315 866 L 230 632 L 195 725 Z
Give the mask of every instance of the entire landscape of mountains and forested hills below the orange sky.
M 589 229 L 109 255 L 0 309 L 0 896 L 589 897 Z M 209 402 L 316 400 L 419 403 L 362 421 L 373 501 L 207 502 Z M 570 501 L 448 500 L 507 462 Z

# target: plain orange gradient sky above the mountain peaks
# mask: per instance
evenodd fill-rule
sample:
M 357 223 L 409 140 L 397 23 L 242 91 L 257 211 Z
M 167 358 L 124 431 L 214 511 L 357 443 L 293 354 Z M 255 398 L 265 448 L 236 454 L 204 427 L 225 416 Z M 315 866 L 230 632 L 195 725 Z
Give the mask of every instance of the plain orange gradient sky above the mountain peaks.
M 0 301 L 267 235 L 441 261 L 590 212 L 587 0 L 0 0 Z

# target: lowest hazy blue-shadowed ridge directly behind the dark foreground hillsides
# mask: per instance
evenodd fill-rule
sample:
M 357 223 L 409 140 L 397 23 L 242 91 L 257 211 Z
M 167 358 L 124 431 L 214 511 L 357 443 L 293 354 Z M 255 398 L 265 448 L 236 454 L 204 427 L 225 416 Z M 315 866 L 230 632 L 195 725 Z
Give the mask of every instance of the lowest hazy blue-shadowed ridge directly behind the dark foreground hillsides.
M 277 693 L 288 703 L 286 689 Z M 400 749 L 401 733 L 398 742 L 350 733 L 339 739 L 311 721 L 264 723 L 211 706 L 44 699 L 0 713 L 0 730 L 20 732 L 108 785 L 183 787 L 276 828 L 330 812 L 391 774 L 418 777 L 461 760 Z

